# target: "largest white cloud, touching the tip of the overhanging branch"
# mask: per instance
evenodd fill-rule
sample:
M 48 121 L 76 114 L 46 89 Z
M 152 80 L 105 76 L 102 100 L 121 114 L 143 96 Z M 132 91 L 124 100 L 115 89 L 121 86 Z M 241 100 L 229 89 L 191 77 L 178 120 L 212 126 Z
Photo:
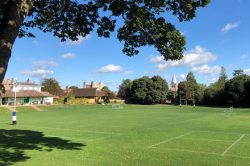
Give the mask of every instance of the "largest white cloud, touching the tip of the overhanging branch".
M 197 65 L 207 64 L 215 61 L 217 57 L 201 46 L 187 51 L 184 57 L 179 61 L 165 61 L 163 56 L 155 56 L 150 58 L 151 63 L 156 63 L 159 70 L 165 70 L 171 67 L 195 67 Z

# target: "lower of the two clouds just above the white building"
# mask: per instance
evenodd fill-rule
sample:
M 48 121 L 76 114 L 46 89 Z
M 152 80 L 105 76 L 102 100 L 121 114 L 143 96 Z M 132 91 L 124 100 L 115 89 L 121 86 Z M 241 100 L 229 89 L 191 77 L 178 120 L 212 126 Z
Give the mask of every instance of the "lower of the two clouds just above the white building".
M 22 71 L 21 73 L 31 77 L 39 77 L 39 78 L 47 78 L 52 74 L 54 74 L 52 70 L 46 70 L 46 69 L 25 70 Z

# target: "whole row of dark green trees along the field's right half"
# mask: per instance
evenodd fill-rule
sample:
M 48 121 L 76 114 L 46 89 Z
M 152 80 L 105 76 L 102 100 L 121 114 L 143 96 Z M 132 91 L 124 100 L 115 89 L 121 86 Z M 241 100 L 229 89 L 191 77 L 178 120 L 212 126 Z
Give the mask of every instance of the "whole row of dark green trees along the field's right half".
M 126 103 L 198 104 L 226 107 L 250 107 L 250 76 L 243 70 L 235 70 L 228 79 L 226 70 L 221 67 L 219 79 L 206 86 L 197 82 L 189 72 L 186 80 L 178 84 L 178 91 L 172 91 L 160 76 L 147 76 L 135 80 L 125 79 L 119 86 L 118 96 Z

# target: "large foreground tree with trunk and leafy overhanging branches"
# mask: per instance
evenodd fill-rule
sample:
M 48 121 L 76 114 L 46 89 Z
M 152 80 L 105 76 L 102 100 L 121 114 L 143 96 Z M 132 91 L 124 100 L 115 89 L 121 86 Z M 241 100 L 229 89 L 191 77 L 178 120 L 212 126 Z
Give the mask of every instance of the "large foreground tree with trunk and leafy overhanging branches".
M 210 0 L 1 0 L 0 1 L 0 83 L 3 81 L 13 44 L 18 37 L 30 36 L 30 28 L 51 32 L 62 41 L 77 40 L 97 30 L 109 37 L 115 30 L 124 42 L 123 52 L 138 54 L 138 48 L 154 46 L 165 60 L 182 58 L 185 39 L 164 15 L 189 21 L 198 7 Z

